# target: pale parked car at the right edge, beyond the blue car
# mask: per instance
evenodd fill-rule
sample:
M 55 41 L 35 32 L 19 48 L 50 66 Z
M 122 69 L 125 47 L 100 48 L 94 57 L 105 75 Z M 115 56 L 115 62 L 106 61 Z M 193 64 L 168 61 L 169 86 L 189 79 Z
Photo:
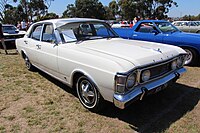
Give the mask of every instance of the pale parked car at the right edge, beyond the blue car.
M 172 24 L 184 32 L 200 33 L 200 25 L 194 21 L 174 21 Z

